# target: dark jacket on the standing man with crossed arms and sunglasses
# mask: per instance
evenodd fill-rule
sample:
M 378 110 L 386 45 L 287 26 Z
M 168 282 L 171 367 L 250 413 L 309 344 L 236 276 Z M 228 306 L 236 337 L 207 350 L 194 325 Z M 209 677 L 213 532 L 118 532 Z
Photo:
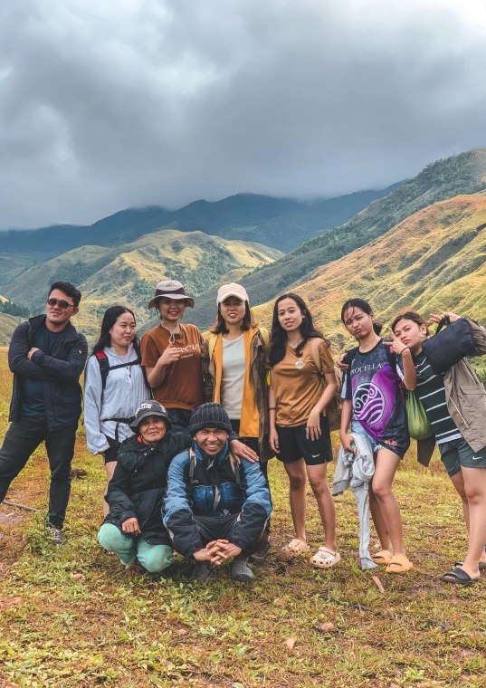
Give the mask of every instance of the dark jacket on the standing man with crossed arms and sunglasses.
M 32 359 L 27 353 L 34 346 L 37 331 L 45 326 L 45 315 L 38 315 L 18 325 L 8 349 L 8 365 L 14 373 L 14 389 L 10 403 L 10 421 L 21 416 L 22 377 L 45 381 L 45 417 L 50 430 L 75 425 L 81 416 L 80 376 L 88 356 L 84 335 L 68 322 L 56 342 L 51 356 L 35 351 Z

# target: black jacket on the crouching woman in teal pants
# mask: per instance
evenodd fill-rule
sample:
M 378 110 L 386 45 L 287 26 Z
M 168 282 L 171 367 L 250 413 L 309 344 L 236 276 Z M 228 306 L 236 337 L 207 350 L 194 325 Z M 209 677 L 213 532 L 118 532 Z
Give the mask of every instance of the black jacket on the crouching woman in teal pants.
M 118 463 L 105 497 L 110 513 L 105 523 L 121 530 L 123 521 L 135 517 L 142 538 L 149 545 L 170 545 L 160 508 L 167 486 L 167 470 L 176 454 L 192 444 L 190 435 L 168 432 L 155 446 L 129 437 L 119 448 Z

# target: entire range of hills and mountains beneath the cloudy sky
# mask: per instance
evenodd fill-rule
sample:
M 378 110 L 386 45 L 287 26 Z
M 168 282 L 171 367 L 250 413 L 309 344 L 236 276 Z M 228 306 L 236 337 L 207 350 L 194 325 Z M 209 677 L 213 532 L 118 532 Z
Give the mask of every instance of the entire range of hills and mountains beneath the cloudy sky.
M 241 282 L 252 305 L 261 304 L 257 311 L 266 324 L 270 301 L 295 290 L 309 298 L 318 322 L 341 347 L 346 336 L 338 301 L 348 295 L 369 296 L 390 320 L 403 305 L 453 309 L 461 293 L 457 307 L 481 316 L 480 300 L 467 301 L 463 290 L 467 285 L 471 294 L 484 291 L 485 189 L 486 148 L 477 148 L 432 163 L 383 192 L 312 203 L 240 194 L 214 204 L 197 201 L 174 213 L 129 209 L 88 228 L 50 227 L 24 238 L 9 232 L 0 234 L 0 292 L 38 312 L 50 282 L 74 282 L 83 292 L 77 321 L 92 339 L 102 311 L 115 302 L 136 309 L 139 331 L 157 322 L 146 303 L 165 277 L 181 279 L 197 297 L 185 320 L 202 330 L 214 321 L 222 282 Z M 169 217 L 171 225 L 180 226 L 160 228 Z M 326 225 L 337 218 L 345 222 Z M 84 244 L 62 251 L 56 233 Z M 313 234 L 319 235 L 303 241 Z M 264 241 L 248 241 L 261 236 Z M 46 237 L 54 255 L 38 250 Z M 281 253 L 292 243 L 300 245 Z M 446 285 L 442 278 L 449 280 Z M 5 339 L 12 323 L 3 324 Z

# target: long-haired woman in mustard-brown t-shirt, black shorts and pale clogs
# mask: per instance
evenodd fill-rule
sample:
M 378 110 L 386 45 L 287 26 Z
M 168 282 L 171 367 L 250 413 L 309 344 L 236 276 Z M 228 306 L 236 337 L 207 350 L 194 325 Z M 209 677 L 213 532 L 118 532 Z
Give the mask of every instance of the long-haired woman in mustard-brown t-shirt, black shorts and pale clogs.
M 312 356 L 312 339 L 319 339 L 320 369 Z M 305 530 L 307 477 L 318 502 L 326 540 L 310 563 L 330 569 L 341 558 L 336 547 L 336 512 L 327 481 L 332 447 L 324 414 L 338 383 L 329 342 L 315 329 L 309 309 L 297 294 L 282 294 L 275 301 L 270 365 L 270 444 L 289 476 L 297 536 L 281 549 L 280 558 L 291 559 L 310 551 Z

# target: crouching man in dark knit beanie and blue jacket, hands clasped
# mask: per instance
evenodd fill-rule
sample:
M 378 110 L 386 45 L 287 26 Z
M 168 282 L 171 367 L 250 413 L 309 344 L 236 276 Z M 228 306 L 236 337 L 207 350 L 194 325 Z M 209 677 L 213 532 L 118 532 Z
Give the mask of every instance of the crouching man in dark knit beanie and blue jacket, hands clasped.
M 195 562 L 192 579 L 211 564 L 233 559 L 233 580 L 253 581 L 248 557 L 268 538 L 272 502 L 259 463 L 238 462 L 230 452 L 232 425 L 219 404 L 193 411 L 190 449 L 170 464 L 163 520 L 174 549 Z

